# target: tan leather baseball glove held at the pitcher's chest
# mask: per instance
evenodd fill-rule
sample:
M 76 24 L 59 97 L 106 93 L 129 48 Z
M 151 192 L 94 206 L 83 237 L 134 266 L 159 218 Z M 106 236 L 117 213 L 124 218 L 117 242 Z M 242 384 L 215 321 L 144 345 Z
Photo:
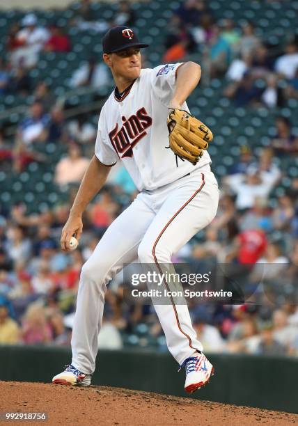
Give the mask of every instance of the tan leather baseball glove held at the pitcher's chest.
M 167 148 L 183 161 L 187 159 L 197 164 L 213 139 L 211 130 L 183 109 L 170 109 L 167 124 L 170 142 Z

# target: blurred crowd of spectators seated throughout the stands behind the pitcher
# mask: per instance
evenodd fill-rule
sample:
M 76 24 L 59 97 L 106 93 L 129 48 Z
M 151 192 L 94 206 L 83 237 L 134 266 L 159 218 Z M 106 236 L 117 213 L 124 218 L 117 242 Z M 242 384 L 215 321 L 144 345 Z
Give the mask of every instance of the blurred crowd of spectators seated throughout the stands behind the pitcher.
M 94 20 L 91 2 L 82 0 L 69 27 L 101 36 L 115 24 L 133 26 L 136 13 L 120 1 L 111 21 Z M 236 28 L 231 19 L 215 22 L 207 1 L 185 0 L 167 26 L 163 62 L 201 54 L 203 83 L 226 81 L 225 96 L 235 107 L 283 107 L 298 94 L 297 39 L 276 49 L 262 41 L 252 22 Z M 65 155 L 54 166 L 53 183 L 68 194 L 52 210 L 31 213 L 26 203 L 0 207 L 0 344 L 70 345 L 81 266 L 109 224 L 136 196 L 129 175 L 118 166 L 84 213 L 79 248 L 63 253 L 61 230 L 93 152 L 96 127 L 86 113 L 66 118 L 45 81 L 29 71 L 41 52 L 71 52 L 68 28 L 40 26 L 33 13 L 10 28 L 7 55 L 0 60 L 0 97 L 15 93 L 32 102 L 13 139 L 0 127 L 0 166 L 22 173 L 31 162 L 45 162 L 38 146 L 55 143 Z M 206 77 L 207 76 L 207 77 Z M 73 70 L 70 88 L 100 88 L 111 81 L 96 58 Z M 260 83 L 261 82 L 261 83 Z M 192 304 L 189 310 L 207 352 L 298 356 L 298 177 L 275 197 L 272 191 L 287 177 L 280 161 L 298 152 L 295 123 L 276 116 L 275 132 L 258 155 L 248 145 L 220 182 L 219 210 L 212 224 L 191 240 L 174 262 L 198 271 L 228 264 L 237 276 L 246 267 L 246 303 Z M 247 270 L 249 267 L 249 270 Z M 262 283 L 262 284 L 260 284 Z M 109 285 L 99 347 L 155 347 L 166 342 L 152 306 L 131 306 L 123 295 L 121 274 Z

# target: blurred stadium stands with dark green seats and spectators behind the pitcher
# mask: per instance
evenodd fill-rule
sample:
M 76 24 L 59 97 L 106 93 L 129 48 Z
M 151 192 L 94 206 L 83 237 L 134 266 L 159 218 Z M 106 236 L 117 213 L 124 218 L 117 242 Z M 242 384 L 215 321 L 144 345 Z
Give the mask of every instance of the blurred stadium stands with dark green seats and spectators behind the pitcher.
M 248 286 L 260 263 L 272 265 L 267 279 L 281 290 L 269 301 L 258 294 L 256 304 L 190 306 L 205 350 L 297 357 L 298 1 L 24 3 L 0 8 L 0 345 L 69 347 L 81 266 L 136 194 L 113 168 L 84 214 L 79 249 L 61 253 L 113 90 L 102 34 L 127 24 L 150 44 L 144 68 L 191 60 L 203 70 L 189 108 L 215 135 L 221 200 L 209 228 L 174 260 L 198 269 L 253 264 Z M 119 275 L 99 347 L 166 352 L 152 306 L 128 306 L 122 288 Z

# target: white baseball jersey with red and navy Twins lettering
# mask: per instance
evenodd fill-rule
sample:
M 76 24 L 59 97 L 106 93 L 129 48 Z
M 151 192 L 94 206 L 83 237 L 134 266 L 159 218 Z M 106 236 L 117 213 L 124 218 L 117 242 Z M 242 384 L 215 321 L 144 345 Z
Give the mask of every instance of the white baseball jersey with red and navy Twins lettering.
M 123 161 L 139 191 L 157 189 L 211 163 L 204 151 L 196 166 L 180 159 L 177 166 L 175 155 L 165 148 L 168 105 L 180 65 L 141 70 L 130 90 L 121 98 L 113 91 L 100 113 L 95 155 L 106 165 Z M 186 102 L 182 109 L 189 111 Z

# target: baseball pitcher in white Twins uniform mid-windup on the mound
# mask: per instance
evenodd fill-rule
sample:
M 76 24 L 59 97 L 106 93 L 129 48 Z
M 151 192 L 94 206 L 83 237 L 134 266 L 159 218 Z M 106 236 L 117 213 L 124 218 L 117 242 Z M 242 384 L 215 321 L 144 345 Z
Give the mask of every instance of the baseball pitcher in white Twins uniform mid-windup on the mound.
M 125 26 L 110 29 L 102 45 L 116 87 L 100 112 L 95 155 L 62 230 L 62 250 L 70 250 L 73 235 L 81 237 L 86 205 L 118 161 L 130 173 L 139 195 L 111 223 L 81 269 L 72 362 L 53 378 L 54 384 L 91 384 L 104 292 L 113 276 L 136 258 L 157 270 L 171 264 L 171 255 L 212 221 L 219 200 L 207 152 L 212 133 L 191 116 L 185 102 L 200 81 L 200 65 L 186 62 L 141 69 L 140 49 L 148 45 Z M 202 352 L 187 305 L 176 305 L 171 299 L 167 305 L 155 304 L 155 310 L 168 350 L 185 367 L 185 390 L 194 392 L 209 381 L 214 369 Z

